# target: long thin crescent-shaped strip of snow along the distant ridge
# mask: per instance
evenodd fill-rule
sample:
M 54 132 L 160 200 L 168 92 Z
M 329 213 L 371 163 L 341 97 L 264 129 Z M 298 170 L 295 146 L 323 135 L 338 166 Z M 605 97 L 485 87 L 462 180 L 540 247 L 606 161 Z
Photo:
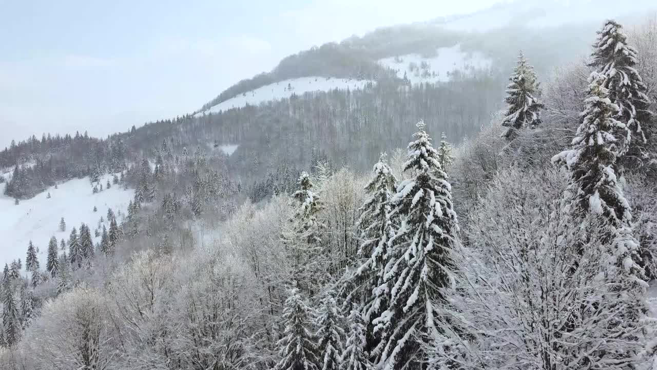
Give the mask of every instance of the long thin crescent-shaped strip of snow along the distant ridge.
M 372 82 L 370 80 L 354 80 L 351 78 L 332 78 L 332 77 L 302 77 L 292 78 L 291 80 L 284 80 L 276 82 L 252 90 L 250 92 L 242 93 L 236 97 L 232 97 L 214 107 L 204 111 L 205 113 L 216 113 L 219 111 L 227 111 L 228 109 L 241 108 L 248 105 L 260 105 L 265 101 L 279 100 L 290 97 L 293 93 L 301 95 L 307 92 L 327 92 L 330 90 L 362 90 L 365 86 Z M 373 82 L 374 83 L 374 82 Z M 195 117 L 200 117 L 203 112 L 196 113 Z

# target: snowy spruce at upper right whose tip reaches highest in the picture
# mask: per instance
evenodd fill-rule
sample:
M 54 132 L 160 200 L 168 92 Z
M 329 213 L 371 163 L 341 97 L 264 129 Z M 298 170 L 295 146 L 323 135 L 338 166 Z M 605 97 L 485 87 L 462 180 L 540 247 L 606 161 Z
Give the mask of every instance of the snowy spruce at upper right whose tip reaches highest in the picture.
M 620 142 L 616 152 L 621 156 L 621 165 L 631 167 L 640 165 L 637 160 L 648 157 L 645 145 L 657 131 L 651 124 L 654 113 L 648 110 L 650 98 L 646 95 L 646 85 L 635 69 L 637 55 L 636 49 L 628 44 L 622 26 L 608 20 L 598 32 L 589 63 L 606 76 L 602 87 L 608 90 L 611 103 L 618 106 L 614 118 L 623 123 L 614 129 Z

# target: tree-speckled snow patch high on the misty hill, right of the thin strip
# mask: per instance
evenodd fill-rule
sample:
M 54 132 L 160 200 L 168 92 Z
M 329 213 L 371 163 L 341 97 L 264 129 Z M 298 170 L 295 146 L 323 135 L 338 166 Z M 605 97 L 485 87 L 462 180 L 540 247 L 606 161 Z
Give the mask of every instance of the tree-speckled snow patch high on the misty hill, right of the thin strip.
M 379 59 L 378 63 L 396 70 L 399 78 L 403 78 L 406 74 L 412 84 L 445 82 L 456 70 L 468 74 L 474 70 L 488 69 L 492 64 L 482 53 L 466 53 L 458 44 L 452 47 L 440 47 L 436 55 L 430 58 L 424 58 L 419 54 L 407 54 Z

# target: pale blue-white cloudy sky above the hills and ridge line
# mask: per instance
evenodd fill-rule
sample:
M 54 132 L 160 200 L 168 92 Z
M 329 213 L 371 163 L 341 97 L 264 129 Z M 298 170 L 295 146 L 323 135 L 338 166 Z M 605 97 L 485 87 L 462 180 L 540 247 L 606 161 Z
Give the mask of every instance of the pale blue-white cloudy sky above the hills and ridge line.
M 0 0 L 0 147 L 198 109 L 291 53 L 494 0 Z

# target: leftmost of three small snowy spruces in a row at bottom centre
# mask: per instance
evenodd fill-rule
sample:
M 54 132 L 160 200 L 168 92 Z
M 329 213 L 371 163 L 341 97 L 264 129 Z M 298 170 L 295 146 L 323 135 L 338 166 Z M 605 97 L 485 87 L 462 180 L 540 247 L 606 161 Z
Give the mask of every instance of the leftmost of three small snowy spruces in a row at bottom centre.
M 283 338 L 279 340 L 279 363 L 275 370 L 318 370 L 317 346 L 311 332 L 310 308 L 294 288 L 283 308 Z

